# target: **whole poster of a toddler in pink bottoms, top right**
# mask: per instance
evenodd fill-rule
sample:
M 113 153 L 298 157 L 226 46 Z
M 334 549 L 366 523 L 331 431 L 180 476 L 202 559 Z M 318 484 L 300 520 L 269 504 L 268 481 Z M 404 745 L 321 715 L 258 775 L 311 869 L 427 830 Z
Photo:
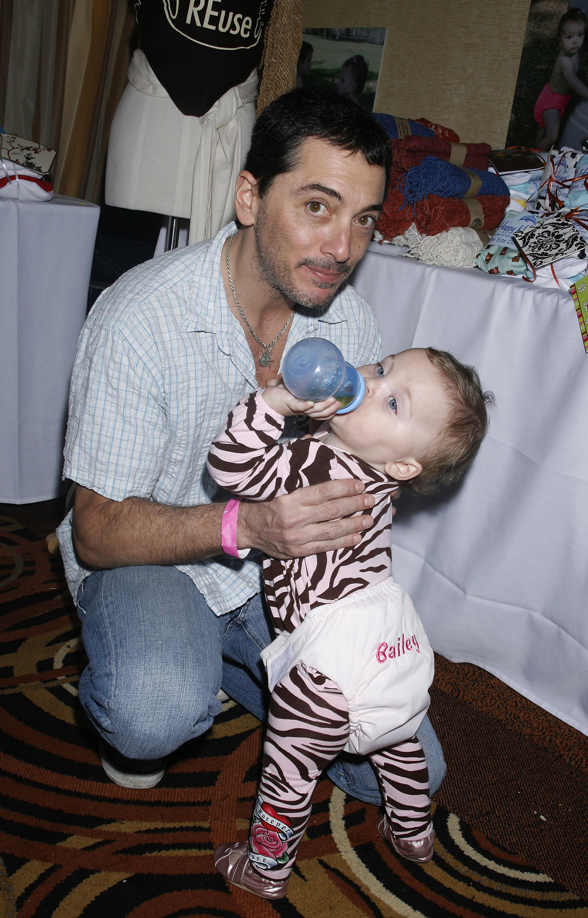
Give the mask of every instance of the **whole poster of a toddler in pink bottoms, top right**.
M 588 120 L 585 138 L 582 128 L 567 127 L 582 103 L 588 109 L 587 7 L 588 0 L 531 0 L 507 147 L 581 149 L 588 139 Z

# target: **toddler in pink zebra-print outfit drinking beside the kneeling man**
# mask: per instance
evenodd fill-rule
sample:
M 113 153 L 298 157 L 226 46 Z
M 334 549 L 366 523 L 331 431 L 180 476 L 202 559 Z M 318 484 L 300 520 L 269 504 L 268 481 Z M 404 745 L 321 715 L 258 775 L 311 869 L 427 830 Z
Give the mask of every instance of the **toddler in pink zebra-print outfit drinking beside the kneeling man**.
M 365 396 L 338 415 L 335 398 L 301 401 L 281 384 L 244 397 L 208 454 L 208 471 L 237 498 L 270 500 L 298 487 L 359 479 L 375 499 L 353 544 L 303 558 L 263 559 L 276 640 L 262 651 L 272 691 L 249 842 L 220 845 L 230 882 L 285 895 L 321 772 L 343 751 L 370 756 L 383 795 L 378 824 L 396 852 L 433 853 L 427 760 L 416 731 L 429 705 L 433 652 L 391 576 L 392 498 L 456 482 L 478 452 L 487 407 L 472 367 L 433 348 L 360 369 Z M 324 421 L 279 442 L 284 418 Z M 327 536 L 326 536 L 327 537 Z

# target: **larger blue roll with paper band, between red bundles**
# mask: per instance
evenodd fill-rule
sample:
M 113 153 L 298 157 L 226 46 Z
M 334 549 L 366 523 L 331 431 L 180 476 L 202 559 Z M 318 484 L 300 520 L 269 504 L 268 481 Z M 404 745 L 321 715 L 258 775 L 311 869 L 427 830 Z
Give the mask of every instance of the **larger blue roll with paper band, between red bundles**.
M 474 176 L 479 176 L 480 187 L 475 191 L 475 196 L 499 195 L 510 197 L 510 192 L 500 175 L 483 172 L 481 169 L 465 170 L 461 166 L 454 166 L 450 162 L 439 160 L 437 156 L 426 156 L 419 166 L 402 175 L 397 182 L 407 204 L 416 204 L 427 195 L 440 197 L 464 197 L 472 187 L 472 180 L 477 185 Z

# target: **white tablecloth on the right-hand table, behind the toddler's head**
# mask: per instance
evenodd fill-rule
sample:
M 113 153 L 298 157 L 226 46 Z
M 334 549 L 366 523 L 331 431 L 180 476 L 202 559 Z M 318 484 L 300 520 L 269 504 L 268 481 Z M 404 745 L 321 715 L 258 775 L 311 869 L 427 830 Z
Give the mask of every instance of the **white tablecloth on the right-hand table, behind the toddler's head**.
M 367 253 L 383 353 L 435 347 L 494 391 L 455 492 L 401 498 L 393 573 L 431 644 L 588 733 L 588 354 L 570 295 Z

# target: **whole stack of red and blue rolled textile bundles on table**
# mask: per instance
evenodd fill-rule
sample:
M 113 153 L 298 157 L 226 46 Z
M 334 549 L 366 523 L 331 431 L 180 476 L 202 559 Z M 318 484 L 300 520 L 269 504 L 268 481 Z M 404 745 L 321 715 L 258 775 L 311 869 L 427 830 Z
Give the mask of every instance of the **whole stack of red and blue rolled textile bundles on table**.
M 457 135 L 456 135 L 457 136 Z M 510 193 L 488 171 L 490 147 L 439 138 L 393 140 L 390 189 L 377 229 L 392 241 L 413 225 L 436 236 L 453 227 L 495 229 Z

